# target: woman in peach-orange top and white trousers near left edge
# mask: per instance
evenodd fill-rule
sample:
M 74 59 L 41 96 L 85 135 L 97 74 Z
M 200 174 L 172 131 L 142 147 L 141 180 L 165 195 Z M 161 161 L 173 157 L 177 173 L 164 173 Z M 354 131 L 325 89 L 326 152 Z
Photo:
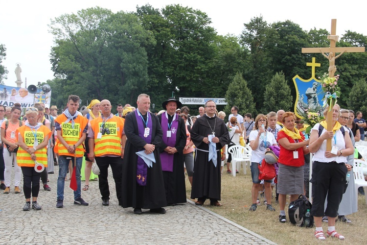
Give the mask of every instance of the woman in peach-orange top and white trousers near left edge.
M 19 119 L 21 116 L 21 108 L 14 106 L 11 109 L 10 117 L 8 122 L 4 121 L 1 124 L 1 141 L 4 143 L 4 179 L 5 179 L 5 190 L 4 194 L 10 192 L 10 180 L 11 180 L 11 168 L 14 162 L 14 193 L 21 193 L 19 185 L 21 184 L 22 169 L 17 164 L 17 153 L 14 150 L 18 149 L 18 137 L 16 135 L 17 129 L 21 127 L 24 123 Z M 6 124 L 8 124 L 5 131 Z M 6 132 L 6 133 L 5 133 Z M 7 146 L 6 146 L 7 145 Z

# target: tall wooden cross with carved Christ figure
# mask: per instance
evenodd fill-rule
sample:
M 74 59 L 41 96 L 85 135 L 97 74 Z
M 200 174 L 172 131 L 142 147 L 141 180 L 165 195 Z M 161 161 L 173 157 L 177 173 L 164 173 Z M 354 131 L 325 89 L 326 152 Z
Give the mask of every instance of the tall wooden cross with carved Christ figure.
M 330 40 L 330 48 L 302 48 L 302 53 L 322 53 L 324 57 L 329 60 L 329 77 L 334 77 L 336 72 L 335 59 L 338 58 L 343 53 L 352 53 L 352 52 L 364 52 L 364 47 L 335 47 L 336 42 L 338 42 L 339 36 L 336 35 L 336 19 L 331 20 L 331 32 L 330 35 L 327 36 L 327 39 Z M 326 55 L 324 52 L 329 53 Z M 335 56 L 335 53 L 340 53 Z M 333 110 L 328 110 L 326 115 L 326 123 L 327 123 L 327 131 L 331 131 L 332 126 L 332 117 Z M 331 139 L 328 139 L 326 142 L 326 150 L 331 150 Z

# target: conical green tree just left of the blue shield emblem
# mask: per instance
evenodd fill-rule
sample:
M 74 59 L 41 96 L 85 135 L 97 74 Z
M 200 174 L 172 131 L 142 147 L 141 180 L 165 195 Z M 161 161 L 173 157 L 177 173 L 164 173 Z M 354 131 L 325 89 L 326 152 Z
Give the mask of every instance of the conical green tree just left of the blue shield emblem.
M 270 84 L 265 88 L 263 113 L 271 111 L 290 111 L 293 97 L 284 73 L 275 73 Z

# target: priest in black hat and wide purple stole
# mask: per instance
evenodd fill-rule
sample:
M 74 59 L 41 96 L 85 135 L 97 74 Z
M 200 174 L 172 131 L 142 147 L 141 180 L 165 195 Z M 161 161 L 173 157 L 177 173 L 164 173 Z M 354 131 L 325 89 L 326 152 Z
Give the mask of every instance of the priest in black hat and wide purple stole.
M 175 113 L 182 103 L 169 98 L 162 103 L 166 112 L 158 115 L 163 131 L 161 164 L 168 205 L 186 202 L 184 154 L 186 128 L 184 120 Z

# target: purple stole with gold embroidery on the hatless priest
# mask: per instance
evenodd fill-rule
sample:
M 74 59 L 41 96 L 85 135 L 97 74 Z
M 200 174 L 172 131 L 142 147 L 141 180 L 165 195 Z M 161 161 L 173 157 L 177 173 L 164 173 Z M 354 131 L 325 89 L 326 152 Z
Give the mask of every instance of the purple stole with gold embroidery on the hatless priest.
M 149 112 L 147 112 L 149 113 Z M 139 136 L 141 139 L 143 139 L 147 144 L 151 144 L 152 142 L 152 132 L 153 132 L 153 124 L 152 124 L 152 117 L 148 114 L 148 123 L 147 127 L 150 128 L 150 133 L 148 137 L 144 137 L 144 131 L 145 127 L 143 122 L 142 116 L 138 114 L 138 110 L 135 110 L 135 116 L 137 118 L 138 123 L 138 131 Z M 144 124 L 143 124 L 144 123 Z M 154 154 L 154 153 L 153 153 Z M 137 182 L 140 186 L 146 186 L 146 174 L 147 174 L 148 166 L 145 164 L 144 160 L 138 156 L 138 162 L 137 162 Z

